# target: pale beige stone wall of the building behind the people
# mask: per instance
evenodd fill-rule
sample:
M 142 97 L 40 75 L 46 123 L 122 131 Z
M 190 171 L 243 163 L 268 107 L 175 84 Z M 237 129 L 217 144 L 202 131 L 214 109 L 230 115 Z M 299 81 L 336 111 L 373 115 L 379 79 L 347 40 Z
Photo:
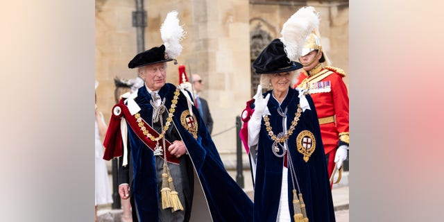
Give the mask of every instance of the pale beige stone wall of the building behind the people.
M 282 24 L 298 8 L 315 6 L 321 13 L 324 49 L 348 73 L 348 1 L 184 0 L 144 1 L 148 26 L 145 49 L 160 46 L 160 25 L 167 12 L 177 10 L 187 36 L 179 64 L 204 80 L 204 92 L 214 119 L 213 137 L 221 153 L 236 148 L 235 117 L 251 98 L 250 32 L 262 24 L 271 37 L 279 37 Z M 322 2 L 322 3 L 320 3 Z M 132 24 L 134 0 L 96 0 L 96 90 L 98 105 L 108 123 L 114 105 L 114 77 L 135 78 L 128 62 L 137 53 Z M 178 84 L 178 66 L 169 62 L 167 81 Z M 348 78 L 345 79 L 348 83 Z M 255 86 L 253 86 L 255 87 Z M 231 158 L 231 157 L 230 157 Z M 244 158 L 246 160 L 246 158 Z

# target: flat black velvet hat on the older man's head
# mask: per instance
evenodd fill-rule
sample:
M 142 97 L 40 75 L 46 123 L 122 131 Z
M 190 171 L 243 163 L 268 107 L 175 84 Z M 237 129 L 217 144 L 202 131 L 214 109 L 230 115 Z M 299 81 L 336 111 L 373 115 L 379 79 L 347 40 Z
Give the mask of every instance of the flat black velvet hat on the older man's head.
M 165 53 L 165 46 L 162 44 L 159 47 L 153 47 L 137 54 L 133 60 L 128 63 L 128 68 L 133 69 L 160 62 L 169 62 L 172 60 L 173 59 L 169 58 L 167 53 Z

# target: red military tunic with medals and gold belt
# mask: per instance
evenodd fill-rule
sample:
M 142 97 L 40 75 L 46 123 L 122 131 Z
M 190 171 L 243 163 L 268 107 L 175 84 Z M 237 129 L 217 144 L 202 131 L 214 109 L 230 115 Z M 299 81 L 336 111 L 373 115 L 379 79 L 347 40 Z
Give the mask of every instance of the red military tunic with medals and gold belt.
M 295 87 L 309 89 L 321 126 L 325 155 L 328 157 L 328 174 L 334 169 L 334 155 L 339 144 L 348 145 L 348 92 L 342 78 L 345 73 L 334 67 L 312 69 L 310 76 L 303 71 Z M 316 68 L 315 68 L 316 69 Z

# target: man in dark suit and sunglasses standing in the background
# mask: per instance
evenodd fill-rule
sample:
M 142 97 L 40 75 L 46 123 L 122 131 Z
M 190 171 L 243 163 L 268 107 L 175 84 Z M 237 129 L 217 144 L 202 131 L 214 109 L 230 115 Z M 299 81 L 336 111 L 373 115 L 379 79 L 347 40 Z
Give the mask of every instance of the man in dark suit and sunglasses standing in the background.
M 208 108 L 208 103 L 206 99 L 199 96 L 200 92 L 203 91 L 203 80 L 198 74 L 192 75 L 194 92 L 194 101 L 196 101 L 196 108 L 199 110 L 200 117 L 202 117 L 205 126 L 207 126 L 208 132 L 213 131 L 213 119 L 211 117 L 210 108 Z

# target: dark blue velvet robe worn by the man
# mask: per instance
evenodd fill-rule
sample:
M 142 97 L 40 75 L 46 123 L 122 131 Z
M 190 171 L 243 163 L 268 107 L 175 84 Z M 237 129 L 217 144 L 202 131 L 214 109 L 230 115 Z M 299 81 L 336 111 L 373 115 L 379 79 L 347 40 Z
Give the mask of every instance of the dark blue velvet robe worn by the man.
M 161 98 L 166 98 L 167 109 L 171 107 L 175 90 L 174 85 L 167 83 L 158 92 Z M 141 87 L 135 101 L 142 108 L 139 113 L 147 123 L 151 122 L 153 115 L 150 100 L 151 94 L 146 91 L 146 87 Z M 181 92 L 174 112 L 173 123 L 185 143 L 189 157 L 191 157 L 194 170 L 205 192 L 212 220 L 253 221 L 253 202 L 225 171 L 216 146 L 195 107 L 193 107 L 193 112 L 198 123 L 198 139 L 194 139 L 193 135 L 182 126 L 180 115 L 187 109 L 187 99 Z M 153 151 L 141 142 L 130 127 L 128 127 L 128 131 L 130 153 L 134 164 L 132 191 L 135 195 L 139 219 L 140 221 L 158 221 L 159 194 L 157 193 L 155 157 Z M 194 189 L 200 189 L 200 187 L 194 186 Z

